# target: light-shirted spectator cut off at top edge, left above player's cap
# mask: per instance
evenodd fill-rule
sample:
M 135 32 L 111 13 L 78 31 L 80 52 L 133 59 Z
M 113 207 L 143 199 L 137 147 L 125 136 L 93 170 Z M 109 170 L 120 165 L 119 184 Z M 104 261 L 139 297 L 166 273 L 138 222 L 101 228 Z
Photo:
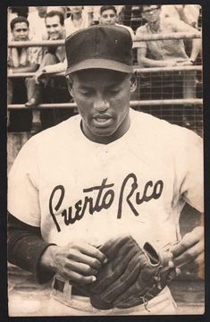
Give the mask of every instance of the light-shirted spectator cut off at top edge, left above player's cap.
M 71 6 L 71 16 L 65 19 L 66 37 L 73 32 L 89 27 L 93 22 L 92 12 L 82 9 L 82 6 Z

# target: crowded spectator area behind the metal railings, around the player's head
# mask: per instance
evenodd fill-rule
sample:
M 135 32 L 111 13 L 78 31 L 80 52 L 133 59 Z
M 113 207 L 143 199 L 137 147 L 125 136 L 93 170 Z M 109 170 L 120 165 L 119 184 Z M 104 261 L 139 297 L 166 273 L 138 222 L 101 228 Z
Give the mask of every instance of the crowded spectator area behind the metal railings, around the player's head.
M 201 70 L 183 67 L 202 64 L 201 38 L 177 39 L 175 32 L 202 30 L 202 12 L 197 4 L 103 5 L 103 6 L 17 6 L 8 9 L 8 44 L 11 41 L 64 40 L 73 32 L 94 24 L 121 25 L 132 38 L 172 33 L 170 39 L 135 41 L 134 66 L 154 72 L 137 73 L 138 86 L 130 100 L 139 101 L 135 109 L 155 114 L 171 123 L 189 127 L 202 135 L 202 106 L 193 99 L 202 98 Z M 8 131 L 37 133 L 77 113 L 76 108 L 56 107 L 72 102 L 63 75 L 66 69 L 63 46 L 8 47 Z M 170 67 L 171 71 L 162 71 Z M 181 67 L 181 71 L 172 70 Z M 24 73 L 34 72 L 33 77 Z M 153 100 L 187 99 L 173 105 Z M 188 101 L 189 100 L 189 101 Z M 141 105 L 141 101 L 147 101 Z M 38 109 L 51 103 L 54 108 Z M 15 105 L 26 108 L 17 109 Z

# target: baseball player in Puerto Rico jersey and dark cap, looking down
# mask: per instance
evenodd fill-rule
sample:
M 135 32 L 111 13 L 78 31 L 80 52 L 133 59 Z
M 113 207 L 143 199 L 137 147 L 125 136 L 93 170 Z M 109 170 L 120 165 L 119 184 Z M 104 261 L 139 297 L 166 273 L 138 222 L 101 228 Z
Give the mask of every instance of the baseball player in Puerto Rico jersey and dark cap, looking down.
M 179 227 L 186 202 L 203 211 L 202 140 L 130 109 L 128 30 L 92 26 L 65 47 L 79 114 L 13 163 L 9 261 L 46 285 L 45 315 L 175 314 L 168 281 L 203 262 L 203 228 Z

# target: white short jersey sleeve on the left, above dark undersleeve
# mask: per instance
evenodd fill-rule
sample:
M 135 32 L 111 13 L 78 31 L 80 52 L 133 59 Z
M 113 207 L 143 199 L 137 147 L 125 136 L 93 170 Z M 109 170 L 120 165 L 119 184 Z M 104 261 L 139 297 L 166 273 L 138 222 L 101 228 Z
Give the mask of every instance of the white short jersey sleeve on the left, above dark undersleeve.
M 36 147 L 29 140 L 8 174 L 8 211 L 23 223 L 40 226 Z

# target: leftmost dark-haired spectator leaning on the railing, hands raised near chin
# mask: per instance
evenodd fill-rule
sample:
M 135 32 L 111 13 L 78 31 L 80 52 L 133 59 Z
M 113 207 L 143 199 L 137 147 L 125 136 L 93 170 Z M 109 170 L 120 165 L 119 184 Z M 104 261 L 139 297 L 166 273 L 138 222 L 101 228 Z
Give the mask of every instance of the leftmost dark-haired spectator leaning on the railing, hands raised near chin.
M 11 21 L 11 31 L 13 41 L 29 40 L 29 21 L 25 17 L 16 17 Z M 8 75 L 19 72 L 36 72 L 41 64 L 42 52 L 40 47 L 11 47 L 8 49 Z M 24 79 L 9 78 L 7 80 L 7 103 L 21 103 L 24 99 Z M 21 90 L 20 90 L 21 89 Z M 14 94 L 14 97 L 13 97 Z M 21 95 L 20 95 L 21 94 Z M 21 114 L 20 114 L 21 113 Z M 13 131 L 18 131 L 17 119 L 21 115 L 21 131 L 29 130 L 31 122 L 31 112 L 29 111 L 11 111 L 10 118 Z M 22 128 L 21 128 L 22 126 Z

